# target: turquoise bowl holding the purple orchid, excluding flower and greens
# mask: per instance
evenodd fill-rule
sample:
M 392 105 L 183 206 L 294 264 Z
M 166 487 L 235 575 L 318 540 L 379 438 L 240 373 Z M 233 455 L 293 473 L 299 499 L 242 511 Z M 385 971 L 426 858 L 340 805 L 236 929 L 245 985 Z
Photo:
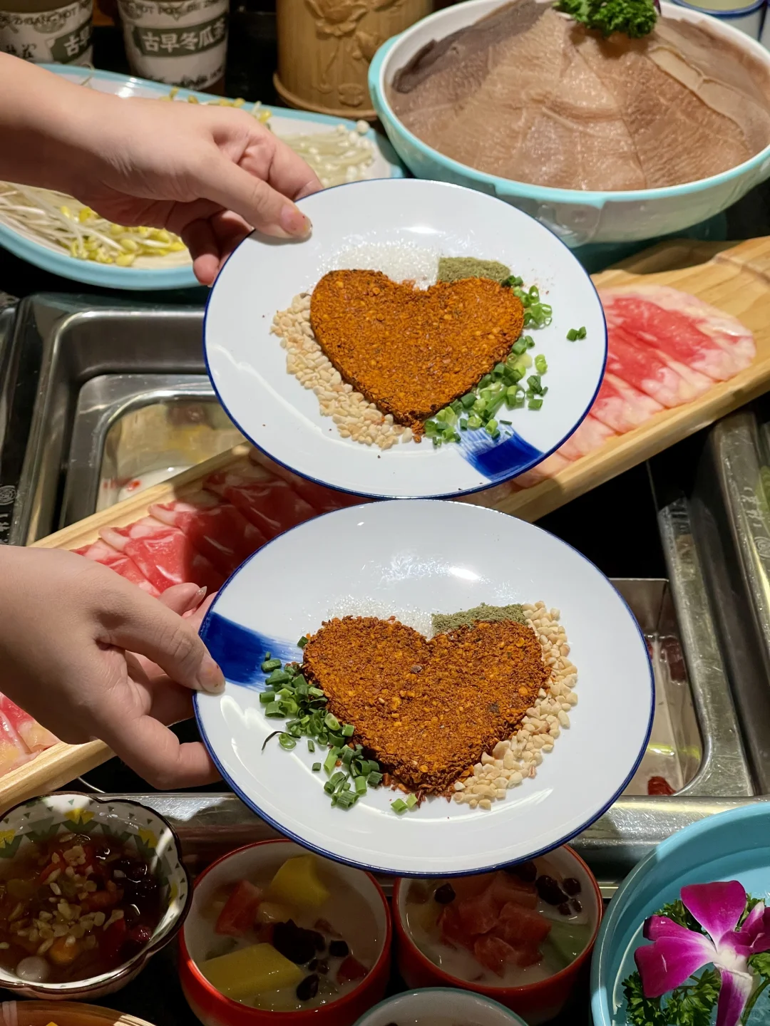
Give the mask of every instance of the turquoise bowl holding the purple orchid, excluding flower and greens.
M 694 823 L 658 844 L 625 878 L 610 902 L 593 949 L 594 1026 L 626 1023 L 622 982 L 636 969 L 633 952 L 642 943 L 645 919 L 678 899 L 686 884 L 713 880 L 739 880 L 747 894 L 768 897 L 770 802 Z

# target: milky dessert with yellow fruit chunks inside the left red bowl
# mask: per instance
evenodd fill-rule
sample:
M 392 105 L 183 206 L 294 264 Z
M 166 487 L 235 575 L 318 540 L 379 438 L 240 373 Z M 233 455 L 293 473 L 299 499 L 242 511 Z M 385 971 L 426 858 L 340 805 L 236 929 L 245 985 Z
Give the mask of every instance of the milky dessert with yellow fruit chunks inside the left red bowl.
M 372 909 L 331 863 L 312 855 L 216 892 L 197 964 L 225 996 L 270 1012 L 336 1000 L 367 976 L 381 947 Z

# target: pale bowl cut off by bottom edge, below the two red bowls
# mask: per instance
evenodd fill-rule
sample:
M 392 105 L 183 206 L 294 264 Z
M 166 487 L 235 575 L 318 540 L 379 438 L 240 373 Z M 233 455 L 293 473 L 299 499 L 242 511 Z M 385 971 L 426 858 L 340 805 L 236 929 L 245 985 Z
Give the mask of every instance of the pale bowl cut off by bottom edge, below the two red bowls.
M 524 1020 L 497 1001 L 449 987 L 426 987 L 381 1001 L 355 1026 L 525 1026 Z

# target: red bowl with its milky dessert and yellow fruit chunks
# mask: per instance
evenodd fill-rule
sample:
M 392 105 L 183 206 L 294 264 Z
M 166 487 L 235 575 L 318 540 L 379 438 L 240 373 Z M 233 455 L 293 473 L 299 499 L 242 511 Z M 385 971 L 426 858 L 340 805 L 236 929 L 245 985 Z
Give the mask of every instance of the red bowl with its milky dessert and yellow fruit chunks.
M 290 863 L 302 871 L 290 873 L 284 868 Z M 302 904 L 308 886 L 312 901 Z M 309 936 L 315 938 L 315 951 L 303 952 Z M 310 855 L 293 841 L 259 841 L 224 856 L 196 879 L 190 916 L 180 934 L 180 980 L 203 1026 L 352 1026 L 385 993 L 391 940 L 388 903 L 372 875 Z M 277 956 L 270 952 L 280 963 L 270 968 L 271 981 L 286 969 L 295 975 L 272 989 L 246 993 L 246 987 L 237 999 L 209 982 L 213 961 L 221 965 L 222 955 L 256 945 L 280 949 Z M 290 960 L 294 965 L 287 965 Z M 350 969 L 353 962 L 356 972 Z M 247 972 L 239 966 L 233 977 L 239 981 Z M 256 977 L 253 972 L 252 981 Z M 316 982 L 308 986 L 311 977 Z

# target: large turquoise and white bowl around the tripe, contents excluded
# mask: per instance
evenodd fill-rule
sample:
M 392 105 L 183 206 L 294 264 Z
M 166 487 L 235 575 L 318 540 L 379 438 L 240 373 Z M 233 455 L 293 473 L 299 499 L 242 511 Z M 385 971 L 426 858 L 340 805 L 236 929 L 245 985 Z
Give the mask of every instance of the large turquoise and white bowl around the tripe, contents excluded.
M 655 239 L 707 221 L 770 176 L 770 146 L 737 167 L 666 189 L 582 192 L 500 179 L 445 157 L 409 131 L 393 113 L 387 88 L 395 72 L 431 40 L 442 39 L 489 14 L 504 0 L 466 0 L 418 22 L 384 43 L 369 72 L 369 89 L 390 142 L 418 179 L 452 182 L 490 193 L 537 219 L 575 249 L 589 243 Z M 662 0 L 663 13 L 706 25 L 717 36 L 753 54 L 770 71 L 770 53 L 724 21 Z

